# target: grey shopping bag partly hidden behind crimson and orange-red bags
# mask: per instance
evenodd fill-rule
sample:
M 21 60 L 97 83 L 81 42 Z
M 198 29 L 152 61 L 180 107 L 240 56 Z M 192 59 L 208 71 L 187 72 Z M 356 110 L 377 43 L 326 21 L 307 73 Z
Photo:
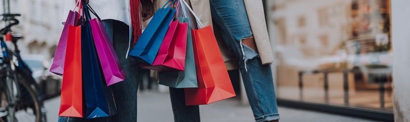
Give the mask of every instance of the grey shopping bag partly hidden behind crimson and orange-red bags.
M 179 22 L 186 23 L 188 18 L 179 18 Z M 198 88 L 197 72 L 195 69 L 194 52 L 192 47 L 191 30 L 187 27 L 187 45 L 184 71 L 163 71 L 160 73 L 159 84 L 172 88 Z

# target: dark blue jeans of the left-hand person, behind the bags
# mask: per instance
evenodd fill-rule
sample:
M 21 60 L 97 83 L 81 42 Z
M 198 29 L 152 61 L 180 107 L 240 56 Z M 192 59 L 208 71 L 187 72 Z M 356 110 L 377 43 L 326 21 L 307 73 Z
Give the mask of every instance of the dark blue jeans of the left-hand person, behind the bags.
M 136 122 L 137 121 L 137 90 L 140 67 L 138 61 L 128 57 L 125 59 L 129 44 L 129 29 L 126 24 L 117 20 L 103 20 L 120 63 L 126 74 L 124 81 L 112 85 L 118 113 L 108 118 L 83 119 L 59 117 L 58 122 Z M 132 47 L 132 46 L 131 46 Z

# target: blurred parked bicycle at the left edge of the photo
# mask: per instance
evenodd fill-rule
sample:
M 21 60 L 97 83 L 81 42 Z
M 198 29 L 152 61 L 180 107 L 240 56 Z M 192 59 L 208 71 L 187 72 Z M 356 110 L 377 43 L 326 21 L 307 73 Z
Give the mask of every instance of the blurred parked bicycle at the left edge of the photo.
M 39 85 L 31 76 L 31 70 L 22 61 L 17 40 L 11 27 L 19 23 L 20 14 L 2 14 L 9 24 L 0 30 L 0 122 L 46 122 L 46 112 Z M 11 36 L 13 50 L 6 44 L 5 36 Z

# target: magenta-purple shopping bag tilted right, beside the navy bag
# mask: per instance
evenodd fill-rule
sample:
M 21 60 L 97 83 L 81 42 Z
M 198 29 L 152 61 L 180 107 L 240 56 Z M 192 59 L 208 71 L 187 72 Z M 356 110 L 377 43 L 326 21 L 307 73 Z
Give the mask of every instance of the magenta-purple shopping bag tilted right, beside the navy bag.
M 123 81 L 126 77 L 125 72 L 107 34 L 107 30 L 105 30 L 104 25 L 98 18 L 90 20 L 90 25 L 107 86 Z

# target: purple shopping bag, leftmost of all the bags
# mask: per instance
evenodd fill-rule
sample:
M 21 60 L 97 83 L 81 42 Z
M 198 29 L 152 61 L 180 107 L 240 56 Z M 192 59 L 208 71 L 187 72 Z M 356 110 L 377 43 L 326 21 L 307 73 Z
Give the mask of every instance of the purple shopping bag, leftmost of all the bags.
M 67 16 L 66 23 L 64 24 L 63 32 L 61 32 L 60 41 L 58 42 L 57 49 L 55 50 L 53 63 L 50 67 L 50 72 L 63 75 L 64 72 L 64 61 L 66 57 L 66 47 L 67 47 L 67 36 L 68 36 L 68 26 L 78 26 L 78 18 L 81 16 L 78 12 L 70 10 Z

